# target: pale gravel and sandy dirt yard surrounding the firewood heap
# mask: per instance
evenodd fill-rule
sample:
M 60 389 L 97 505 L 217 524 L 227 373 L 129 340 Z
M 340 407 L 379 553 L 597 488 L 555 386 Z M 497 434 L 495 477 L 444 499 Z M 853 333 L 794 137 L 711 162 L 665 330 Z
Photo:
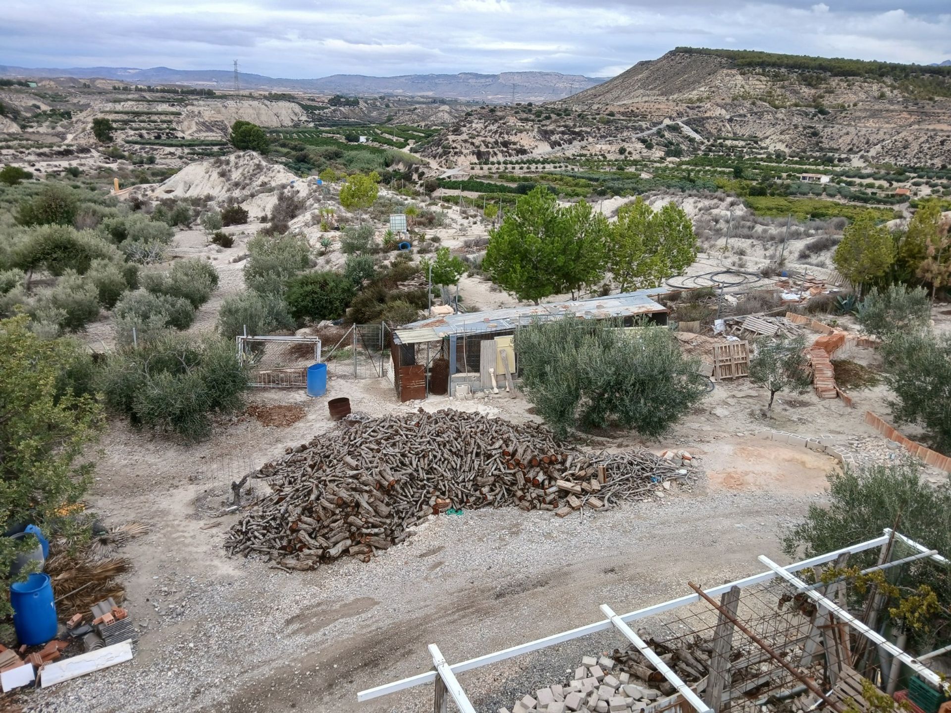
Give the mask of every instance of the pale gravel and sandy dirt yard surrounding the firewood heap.
M 330 375 L 327 398 L 348 396 L 355 411 L 420 406 L 399 404 L 386 379 L 355 380 L 333 364 Z M 779 533 L 822 502 L 825 473 L 837 464 L 756 435 L 765 427 L 863 438 L 868 453 L 894 457 L 863 422 L 866 408 L 883 413 L 881 388 L 857 392 L 854 409 L 812 394 L 780 395 L 764 419 L 762 391 L 747 381 L 721 383 L 670 434 L 645 443 L 693 453 L 706 475 L 690 488 L 564 520 L 516 509 L 431 518 L 369 564 L 286 574 L 223 550 L 236 519 L 218 516 L 227 486 L 285 446 L 334 426 L 325 398 L 299 391 L 251 398 L 259 414 L 296 407 L 290 425 L 243 415 L 188 447 L 111 424 L 92 503 L 107 522 L 137 519 L 153 528 L 126 548 L 135 562 L 127 605 L 142 630 L 137 655 L 24 695 L 27 710 L 429 710 L 428 687 L 371 703 L 357 703 L 356 694 L 427 670 L 430 643 L 451 660 L 465 659 L 592 622 L 601 603 L 627 611 L 684 593 L 688 580 L 712 585 L 759 571 L 757 553 L 787 561 Z M 532 418 L 521 395 L 431 397 L 421 405 Z M 592 449 L 642 442 L 620 432 L 585 440 Z M 260 482 L 254 487 L 264 490 Z M 479 709 L 495 710 L 514 693 L 554 680 L 578 656 L 616 645 L 610 634 L 589 637 L 467 673 L 462 682 Z

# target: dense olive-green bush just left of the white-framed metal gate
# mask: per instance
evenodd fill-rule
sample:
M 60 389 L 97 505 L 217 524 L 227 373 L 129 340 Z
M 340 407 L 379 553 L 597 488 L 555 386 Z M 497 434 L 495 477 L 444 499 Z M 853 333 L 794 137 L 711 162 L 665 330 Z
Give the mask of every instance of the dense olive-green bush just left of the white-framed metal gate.
M 108 357 L 100 386 L 134 426 L 195 441 L 211 433 L 212 414 L 243 408 L 247 372 L 232 340 L 168 334 Z

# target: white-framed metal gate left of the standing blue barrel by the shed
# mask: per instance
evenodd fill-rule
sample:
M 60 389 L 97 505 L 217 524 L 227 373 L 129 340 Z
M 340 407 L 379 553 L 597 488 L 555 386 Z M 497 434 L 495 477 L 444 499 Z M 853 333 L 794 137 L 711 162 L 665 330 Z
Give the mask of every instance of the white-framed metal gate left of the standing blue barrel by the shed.
M 251 368 L 249 386 L 303 389 L 307 367 L 320 363 L 320 337 L 235 337 L 238 360 Z

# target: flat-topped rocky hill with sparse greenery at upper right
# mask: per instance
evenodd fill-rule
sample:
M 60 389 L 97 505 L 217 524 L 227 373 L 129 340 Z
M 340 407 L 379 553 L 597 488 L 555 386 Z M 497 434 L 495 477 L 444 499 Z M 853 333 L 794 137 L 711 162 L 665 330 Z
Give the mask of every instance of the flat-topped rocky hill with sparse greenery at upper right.
M 433 155 L 465 164 L 555 150 L 610 155 L 613 144 L 631 156 L 632 138 L 678 121 L 699 136 L 685 151 L 736 136 L 846 163 L 951 164 L 951 67 L 677 48 L 529 111 L 474 112 L 433 142 Z

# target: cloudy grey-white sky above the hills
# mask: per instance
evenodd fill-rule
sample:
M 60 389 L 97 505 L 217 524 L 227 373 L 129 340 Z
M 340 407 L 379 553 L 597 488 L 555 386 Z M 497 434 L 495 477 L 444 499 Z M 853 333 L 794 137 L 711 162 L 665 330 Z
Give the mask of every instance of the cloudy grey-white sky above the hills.
M 607 76 L 678 45 L 928 64 L 949 0 L 2 0 L 0 64 Z

